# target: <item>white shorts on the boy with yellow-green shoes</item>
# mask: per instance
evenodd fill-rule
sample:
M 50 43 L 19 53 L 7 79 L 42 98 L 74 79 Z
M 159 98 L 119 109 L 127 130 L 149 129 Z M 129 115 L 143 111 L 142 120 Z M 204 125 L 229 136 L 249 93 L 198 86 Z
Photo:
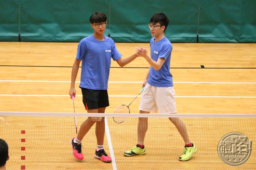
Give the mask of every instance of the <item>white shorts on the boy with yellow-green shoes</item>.
M 177 113 L 173 87 L 156 87 L 146 84 L 140 99 L 141 111 Z

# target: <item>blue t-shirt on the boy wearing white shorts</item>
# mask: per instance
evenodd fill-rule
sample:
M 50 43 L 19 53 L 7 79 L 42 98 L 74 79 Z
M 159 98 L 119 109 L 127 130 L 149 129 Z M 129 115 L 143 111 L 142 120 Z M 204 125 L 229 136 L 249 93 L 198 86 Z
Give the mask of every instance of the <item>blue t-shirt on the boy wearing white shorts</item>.
M 160 41 L 155 41 L 155 37 L 150 40 L 150 55 L 154 61 L 158 58 L 164 58 L 163 66 L 157 71 L 150 67 L 148 84 L 156 87 L 170 87 L 173 86 L 172 74 L 170 73 L 172 44 L 164 37 Z

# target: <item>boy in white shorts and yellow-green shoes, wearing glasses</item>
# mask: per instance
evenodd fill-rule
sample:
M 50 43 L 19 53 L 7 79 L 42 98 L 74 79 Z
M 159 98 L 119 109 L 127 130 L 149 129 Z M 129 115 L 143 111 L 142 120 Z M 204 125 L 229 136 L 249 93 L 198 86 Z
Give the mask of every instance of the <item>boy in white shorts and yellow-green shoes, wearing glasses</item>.
M 170 61 L 172 44 L 165 37 L 164 32 L 169 24 L 169 19 L 164 13 L 156 13 L 150 19 L 151 35 L 150 56 L 145 48 L 137 48 L 137 54 L 144 57 L 150 64 L 150 68 L 143 82 L 144 91 L 140 100 L 140 113 L 157 112 L 174 114 L 176 102 L 174 98 L 174 88 L 172 74 L 170 73 Z M 186 161 L 197 151 L 194 144 L 189 141 L 188 133 L 184 122 L 180 118 L 169 118 L 179 131 L 185 143 L 183 154 L 179 160 Z M 148 118 L 139 118 L 138 123 L 138 143 L 129 151 L 124 152 L 124 156 L 144 155 L 144 138 L 148 129 Z M 165 145 L 165 144 L 164 144 Z

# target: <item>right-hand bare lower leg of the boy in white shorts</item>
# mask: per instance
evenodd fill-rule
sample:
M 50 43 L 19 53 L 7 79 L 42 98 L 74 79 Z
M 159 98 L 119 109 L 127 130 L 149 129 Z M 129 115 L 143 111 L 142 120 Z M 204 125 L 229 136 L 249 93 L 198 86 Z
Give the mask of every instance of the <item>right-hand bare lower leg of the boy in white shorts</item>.
M 180 118 L 176 117 L 170 117 L 169 120 L 175 125 L 181 137 L 183 138 L 185 144 L 189 144 L 190 141 L 185 123 Z

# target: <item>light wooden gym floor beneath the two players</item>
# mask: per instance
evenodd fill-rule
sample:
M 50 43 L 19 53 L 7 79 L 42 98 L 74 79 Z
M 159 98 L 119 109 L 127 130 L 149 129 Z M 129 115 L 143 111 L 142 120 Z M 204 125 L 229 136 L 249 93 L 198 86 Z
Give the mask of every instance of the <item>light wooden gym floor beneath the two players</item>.
M 77 45 L 78 43 L 0 42 L 1 111 L 73 113 L 73 102 L 68 92 Z M 172 45 L 171 73 L 179 114 L 256 113 L 256 44 L 173 43 Z M 145 47 L 149 51 L 148 43 L 116 43 L 116 47 L 123 54 L 123 58 L 135 53 L 136 47 Z M 142 57 L 138 57 L 124 68 L 120 68 L 112 61 L 108 83 L 110 106 L 107 107 L 106 113 L 113 113 L 116 107 L 129 104 L 134 99 L 141 89 L 148 68 L 148 63 Z M 81 68 L 77 81 L 80 81 L 80 71 Z M 79 83 L 76 83 L 76 112 L 83 113 L 85 109 L 78 85 Z M 131 113 L 139 112 L 139 102 L 140 97 L 130 106 Z M 56 125 L 56 121 L 61 126 Z M 78 118 L 78 127 L 83 121 L 83 117 Z M 135 169 L 157 169 L 155 167 L 158 166 L 162 169 L 255 169 L 256 167 L 254 153 L 256 147 L 253 143 L 255 142 L 253 139 L 256 139 L 255 119 L 232 119 L 231 122 L 229 119 L 220 121 L 214 118 L 203 121 L 194 119 L 193 122 L 190 122 L 191 119 L 184 119 L 191 141 L 198 147 L 197 153 L 186 162 L 178 161 L 183 150 L 181 137 L 171 123 L 162 120 L 159 122 L 163 123 L 164 127 L 158 127 L 159 122 L 150 122 L 145 139 L 145 143 L 148 144 L 146 155 L 124 157 L 122 153 L 136 144 L 136 121 L 129 119 L 125 124 L 118 125 L 108 118 L 117 169 L 130 169 L 133 165 L 136 165 L 133 166 Z M 239 124 L 239 127 L 232 127 L 234 124 Z M 45 169 L 43 168 L 45 166 L 49 169 L 98 169 L 102 166 L 103 169 L 115 169 L 113 164 L 104 164 L 93 158 L 93 150 L 96 146 L 93 128 L 84 137 L 83 144 L 88 144 L 83 148 L 83 152 L 87 154 L 84 161 L 77 162 L 73 158 L 68 142 L 75 136 L 72 131 L 74 117 L 54 117 L 54 119 L 13 117 L 1 116 L 0 113 L 0 128 L 0 138 L 4 138 L 10 145 L 8 169 L 20 169 L 23 165 L 25 169 Z M 22 130 L 26 130 L 23 136 Z M 220 138 L 234 130 L 246 134 L 253 144 L 253 154 L 250 159 L 237 167 L 223 163 L 216 152 Z M 57 136 L 50 133 L 53 131 L 58 132 L 56 132 Z M 160 140 L 161 137 L 157 133 L 164 138 Z M 168 136 L 169 133 L 172 136 Z M 27 150 L 22 152 L 20 148 L 23 143 L 20 142 L 20 138 L 24 135 Z M 126 140 L 127 136 L 129 140 Z M 49 143 L 53 138 L 59 141 L 58 150 L 61 152 L 48 160 L 52 156 L 52 149 L 55 149 L 54 143 Z M 159 141 L 154 138 L 159 138 Z M 209 148 L 208 144 L 213 141 L 216 146 Z M 175 149 L 171 147 L 172 154 L 164 153 L 163 156 L 161 149 L 158 152 L 155 147 L 162 142 L 175 146 Z M 108 145 L 105 137 L 104 148 L 109 153 Z M 118 145 L 121 148 L 117 147 Z M 212 153 L 211 156 L 209 152 Z M 24 153 L 25 160 L 21 159 Z M 40 158 L 45 158 L 47 161 Z

